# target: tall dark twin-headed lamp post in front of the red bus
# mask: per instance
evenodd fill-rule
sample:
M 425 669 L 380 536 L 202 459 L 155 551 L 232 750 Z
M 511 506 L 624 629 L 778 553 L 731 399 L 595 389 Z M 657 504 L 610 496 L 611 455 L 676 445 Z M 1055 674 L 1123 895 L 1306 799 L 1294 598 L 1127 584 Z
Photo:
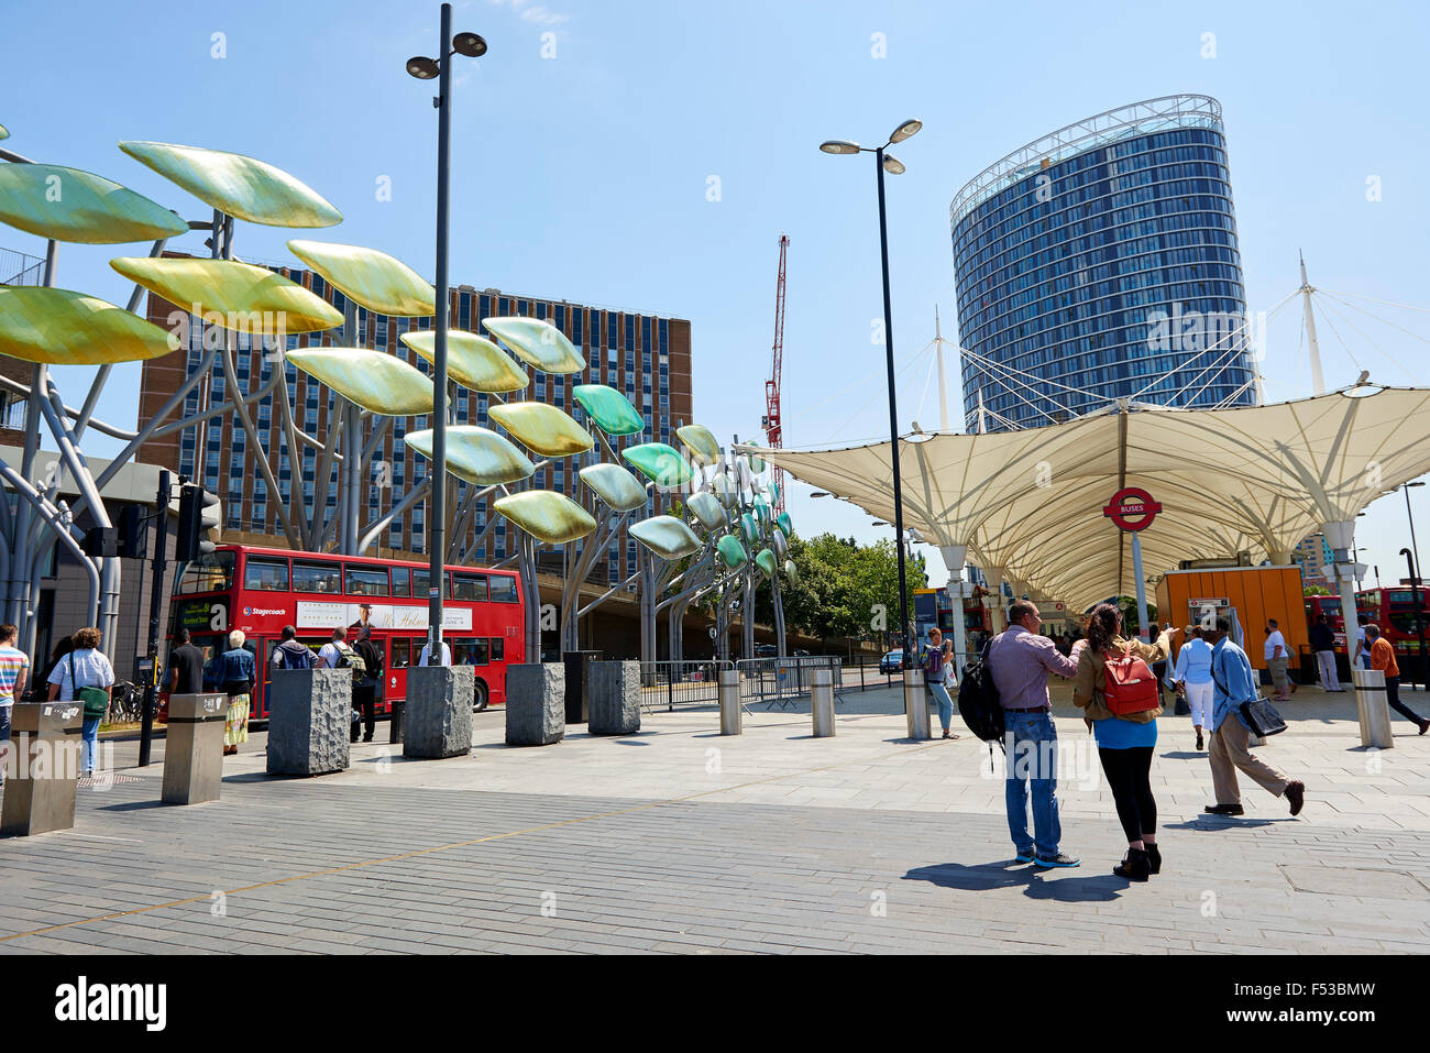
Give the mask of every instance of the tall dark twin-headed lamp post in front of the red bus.
M 432 348 L 432 494 L 428 498 L 428 545 L 430 571 L 428 579 L 428 647 L 429 662 L 442 664 L 442 589 L 446 537 L 446 336 L 448 336 L 448 199 L 450 182 L 449 146 L 452 139 L 452 56 L 478 59 L 486 54 L 486 41 L 476 33 L 452 37 L 452 4 L 442 4 L 439 59 L 408 59 L 408 73 L 418 80 L 438 79 L 438 96 L 432 104 L 438 110 L 438 259 L 436 259 L 436 318 Z

